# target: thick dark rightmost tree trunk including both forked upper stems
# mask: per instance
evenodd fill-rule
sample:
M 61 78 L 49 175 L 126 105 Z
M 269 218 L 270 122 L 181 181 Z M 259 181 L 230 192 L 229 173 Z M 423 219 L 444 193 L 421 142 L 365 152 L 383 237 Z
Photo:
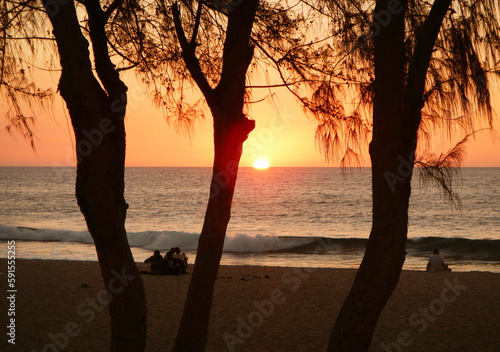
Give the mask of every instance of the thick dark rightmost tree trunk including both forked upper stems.
M 391 2 L 378 0 L 374 11 L 375 19 L 388 13 L 391 17 L 373 38 L 372 230 L 330 336 L 329 351 L 368 351 L 380 314 L 399 281 L 406 254 L 411 177 L 425 76 L 451 0 L 434 3 L 417 36 L 408 69 L 404 31 L 407 3 L 401 1 L 401 11 L 390 11 L 394 5 Z

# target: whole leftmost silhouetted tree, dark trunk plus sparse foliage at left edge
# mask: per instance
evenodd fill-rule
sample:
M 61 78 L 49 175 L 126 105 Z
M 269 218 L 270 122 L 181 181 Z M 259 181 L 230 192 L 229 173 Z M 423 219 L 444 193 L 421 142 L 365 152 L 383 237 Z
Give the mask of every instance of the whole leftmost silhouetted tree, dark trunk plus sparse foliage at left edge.
M 124 198 L 123 119 L 127 87 L 111 60 L 106 32 L 110 16 L 123 3 L 123 0 L 107 3 L 103 10 L 99 0 L 86 0 L 77 5 L 78 11 L 73 1 L 44 0 L 43 8 L 36 1 L 3 3 L 2 88 L 8 94 L 14 92 L 10 95 L 14 106 L 15 94 L 44 98 L 43 92 L 20 91 L 19 84 L 4 85 L 4 78 L 13 75 L 16 62 L 21 61 L 15 50 L 7 48 L 17 46 L 22 52 L 31 45 L 35 51 L 37 40 L 55 41 L 61 67 L 58 90 L 66 102 L 76 138 L 76 198 L 94 239 L 108 292 L 111 350 L 143 351 L 146 299 L 125 231 L 128 205 Z M 78 15 L 85 16 L 83 26 Z M 53 37 L 44 32 L 47 18 Z M 87 38 L 92 43 L 92 56 Z M 24 124 L 23 116 L 17 115 Z M 24 129 L 30 133 L 29 125 L 24 124 Z

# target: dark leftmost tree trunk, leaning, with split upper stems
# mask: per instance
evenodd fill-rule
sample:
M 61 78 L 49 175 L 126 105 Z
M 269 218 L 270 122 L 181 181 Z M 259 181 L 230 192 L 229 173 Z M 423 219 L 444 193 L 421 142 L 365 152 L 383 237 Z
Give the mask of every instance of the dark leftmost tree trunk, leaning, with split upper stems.
M 93 10 L 100 10 L 95 7 L 97 0 L 87 3 L 94 5 Z M 94 239 L 108 292 L 111 351 L 144 351 L 146 299 L 125 231 L 128 205 L 124 198 L 123 117 L 127 88 L 114 68 L 109 70 L 107 65 L 107 44 L 102 42 L 104 26 L 100 22 L 103 17 L 97 18 L 101 31 L 95 22 L 99 12 L 88 9 L 96 68 L 106 91 L 92 72 L 89 43 L 81 33 L 73 2 L 44 1 L 44 6 L 60 55 L 59 90 L 75 132 L 76 197 Z

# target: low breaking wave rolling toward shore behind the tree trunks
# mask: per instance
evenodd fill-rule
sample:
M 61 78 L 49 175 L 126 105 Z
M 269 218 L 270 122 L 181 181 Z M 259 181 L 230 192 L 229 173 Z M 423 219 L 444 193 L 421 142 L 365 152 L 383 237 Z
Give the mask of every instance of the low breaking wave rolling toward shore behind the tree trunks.
M 129 232 L 128 239 L 132 247 L 148 250 L 168 250 L 171 247 L 181 247 L 186 251 L 195 251 L 198 246 L 199 234 L 181 231 Z M 36 229 L 5 225 L 0 225 L 0 240 L 93 243 L 87 231 Z M 326 255 L 335 253 L 362 254 L 366 243 L 367 239 L 362 238 L 269 237 L 238 234 L 226 238 L 224 251 Z M 414 257 L 426 257 L 434 248 L 439 248 L 449 259 L 500 261 L 500 240 L 493 239 L 420 237 L 409 239 L 406 248 L 408 255 Z

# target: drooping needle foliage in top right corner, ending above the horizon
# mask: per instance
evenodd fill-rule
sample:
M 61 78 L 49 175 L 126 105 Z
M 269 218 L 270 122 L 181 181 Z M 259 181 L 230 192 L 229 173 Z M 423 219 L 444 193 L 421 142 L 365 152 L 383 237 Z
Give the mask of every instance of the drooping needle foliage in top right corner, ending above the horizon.
M 482 122 L 492 126 L 490 81 L 500 72 L 499 10 L 494 0 L 452 2 L 427 75 L 424 134 L 433 129 L 448 136 L 457 129 L 469 134 Z

